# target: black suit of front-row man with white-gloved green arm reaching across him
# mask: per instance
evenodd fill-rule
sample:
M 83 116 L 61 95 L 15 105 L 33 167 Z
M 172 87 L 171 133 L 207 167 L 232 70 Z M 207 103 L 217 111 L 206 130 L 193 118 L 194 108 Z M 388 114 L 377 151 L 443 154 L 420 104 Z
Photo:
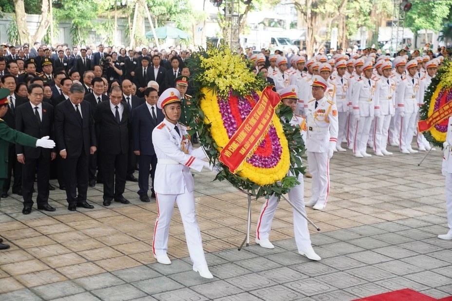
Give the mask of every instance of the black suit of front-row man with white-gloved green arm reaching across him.
M 46 102 L 41 103 L 41 122 L 35 115 L 35 106 L 30 102 L 19 106 L 16 110 L 16 130 L 30 136 L 41 138 L 50 136 L 54 139 L 54 108 Z M 16 154 L 23 154 L 25 164 L 22 166 L 22 197 L 23 206 L 33 206 L 33 186 L 35 184 L 35 172 L 38 180 L 38 206 L 48 204 L 49 200 L 49 178 L 51 152 L 55 150 L 43 148 L 24 147 L 16 145 Z

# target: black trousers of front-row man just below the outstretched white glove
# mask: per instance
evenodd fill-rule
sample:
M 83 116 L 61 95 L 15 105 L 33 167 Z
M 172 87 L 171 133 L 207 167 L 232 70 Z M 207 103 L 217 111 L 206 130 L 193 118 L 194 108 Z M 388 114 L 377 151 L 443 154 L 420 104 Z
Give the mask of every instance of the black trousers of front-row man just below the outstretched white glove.
M 35 186 L 35 172 L 38 180 L 38 206 L 46 205 L 49 201 L 49 179 L 50 179 L 50 154 L 39 155 L 39 158 L 25 157 L 22 166 L 22 198 L 23 206 L 33 206 L 33 187 Z

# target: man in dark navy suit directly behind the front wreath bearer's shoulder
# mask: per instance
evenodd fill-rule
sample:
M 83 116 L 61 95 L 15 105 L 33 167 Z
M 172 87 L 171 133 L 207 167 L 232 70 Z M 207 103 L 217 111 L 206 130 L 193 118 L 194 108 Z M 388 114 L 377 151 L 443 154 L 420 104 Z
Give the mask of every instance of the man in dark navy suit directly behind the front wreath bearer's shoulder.
M 158 92 L 154 88 L 147 88 L 144 93 L 146 102 L 133 110 L 132 130 L 134 148 L 133 152 L 138 156 L 138 195 L 142 202 L 150 202 L 149 190 L 149 168 L 151 167 L 151 198 L 155 199 L 154 176 L 157 167 L 157 156 L 152 144 L 152 131 L 163 121 L 165 116 L 162 110 L 157 110 Z

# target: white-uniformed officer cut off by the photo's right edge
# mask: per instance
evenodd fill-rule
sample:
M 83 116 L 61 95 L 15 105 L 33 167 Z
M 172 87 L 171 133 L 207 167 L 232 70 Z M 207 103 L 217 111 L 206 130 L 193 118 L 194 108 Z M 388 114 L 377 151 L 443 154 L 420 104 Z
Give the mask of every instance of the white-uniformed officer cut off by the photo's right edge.
M 440 234 L 438 238 L 452 240 L 452 116 L 449 117 L 447 124 L 447 134 L 444 146 L 444 157 L 442 173 L 446 177 L 446 212 L 447 226 L 449 231 L 447 234 Z

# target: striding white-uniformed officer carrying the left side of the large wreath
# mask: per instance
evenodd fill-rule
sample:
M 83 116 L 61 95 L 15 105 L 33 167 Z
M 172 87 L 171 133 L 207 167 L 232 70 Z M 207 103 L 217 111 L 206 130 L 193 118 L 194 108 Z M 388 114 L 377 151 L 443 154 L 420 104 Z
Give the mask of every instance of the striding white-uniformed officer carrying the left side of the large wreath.
M 165 119 L 152 131 L 152 143 L 157 155 L 155 169 L 155 194 L 157 200 L 157 220 L 155 221 L 152 252 L 159 263 L 170 264 L 168 258 L 168 235 L 174 202 L 181 213 L 185 237 L 193 270 L 204 277 L 213 278 L 204 256 L 201 232 L 196 220 L 193 197 L 193 176 L 190 168 L 201 171 L 203 167 L 212 169 L 202 159 L 206 158 L 202 149 L 193 150 L 187 127 L 178 123 L 181 108 L 179 91 L 165 90 L 157 101 Z

